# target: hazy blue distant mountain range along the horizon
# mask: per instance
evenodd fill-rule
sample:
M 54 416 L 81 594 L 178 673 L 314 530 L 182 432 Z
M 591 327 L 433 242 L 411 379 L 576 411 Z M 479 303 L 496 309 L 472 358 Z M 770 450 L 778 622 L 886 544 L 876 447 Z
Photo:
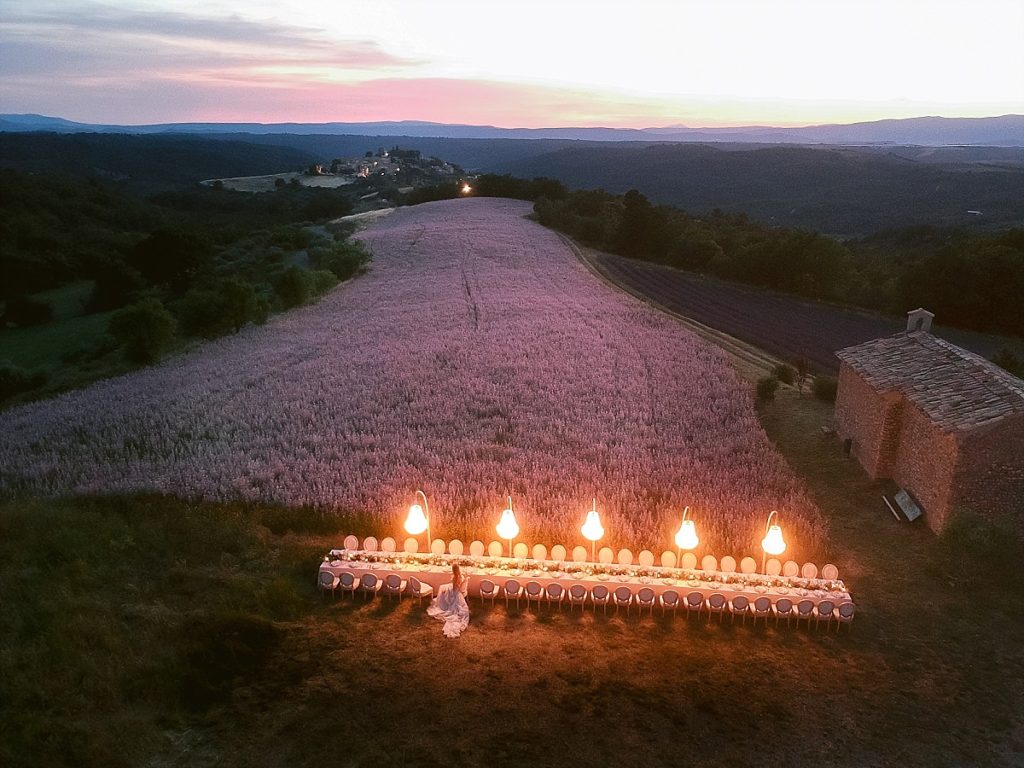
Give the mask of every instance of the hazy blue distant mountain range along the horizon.
M 922 146 L 1024 146 L 1024 115 L 991 118 L 923 117 L 805 128 L 497 128 L 420 121 L 380 123 L 164 123 L 93 125 L 43 115 L 0 115 L 0 132 L 55 133 L 246 133 L 423 138 L 569 139 L 582 141 L 728 142 Z

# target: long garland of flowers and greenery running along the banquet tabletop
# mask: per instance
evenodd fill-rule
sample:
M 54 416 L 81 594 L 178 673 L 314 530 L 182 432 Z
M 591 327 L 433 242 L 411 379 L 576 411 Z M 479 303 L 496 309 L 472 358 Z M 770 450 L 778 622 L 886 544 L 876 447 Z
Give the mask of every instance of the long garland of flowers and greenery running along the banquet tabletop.
M 802 577 L 766 575 L 764 573 L 724 573 L 691 568 L 668 568 L 658 566 L 617 565 L 612 563 L 563 562 L 554 560 L 531 560 L 528 558 L 490 557 L 473 555 L 435 555 L 407 552 L 364 552 L 358 550 L 332 550 L 325 555 L 324 562 L 349 561 L 383 563 L 392 565 L 450 566 L 486 568 L 505 571 L 509 575 L 521 575 L 528 571 L 547 573 L 561 572 L 572 579 L 588 579 L 596 575 L 631 577 L 649 579 L 674 579 L 682 582 L 700 582 L 714 589 L 714 585 L 735 585 L 741 587 L 787 587 L 806 590 L 846 593 L 846 585 L 840 580 L 804 579 Z

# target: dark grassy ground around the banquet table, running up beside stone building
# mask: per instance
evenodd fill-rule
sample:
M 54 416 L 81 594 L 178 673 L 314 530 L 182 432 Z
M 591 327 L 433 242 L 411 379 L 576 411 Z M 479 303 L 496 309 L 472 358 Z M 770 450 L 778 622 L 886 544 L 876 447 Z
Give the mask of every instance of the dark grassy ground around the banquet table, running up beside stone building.
M 409 601 L 317 596 L 358 520 L 7 502 L 0 764 L 1021 765 L 1018 552 L 897 523 L 827 415 L 786 391 L 762 417 L 830 521 L 839 636 L 474 601 L 453 641 Z

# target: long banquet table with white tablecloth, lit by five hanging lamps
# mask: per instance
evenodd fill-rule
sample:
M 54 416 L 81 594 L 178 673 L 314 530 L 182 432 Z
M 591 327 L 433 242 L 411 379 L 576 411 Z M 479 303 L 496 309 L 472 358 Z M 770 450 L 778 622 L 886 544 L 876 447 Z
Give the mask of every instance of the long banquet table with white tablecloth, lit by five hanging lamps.
M 461 557 L 459 559 L 464 563 L 467 558 Z M 496 558 L 486 559 L 493 561 Z M 593 564 L 575 563 L 574 565 Z M 605 585 L 608 590 L 612 592 L 617 587 L 626 586 L 630 588 L 630 591 L 634 595 L 636 595 L 636 593 L 644 587 L 649 587 L 654 591 L 655 595 L 660 595 L 667 590 L 675 590 L 679 593 L 680 607 L 682 607 L 685 602 L 686 596 L 691 592 L 699 592 L 705 598 L 718 592 L 724 595 L 727 600 L 731 600 L 737 595 L 744 595 L 752 603 L 759 597 L 767 597 L 772 603 L 782 597 L 790 598 L 795 604 L 801 600 L 810 600 L 815 605 L 822 600 L 831 600 L 837 606 L 844 602 L 853 602 L 850 593 L 846 591 L 845 588 L 836 588 L 835 585 L 837 583 L 833 582 L 827 583 L 833 585 L 833 589 L 826 589 L 826 583 L 819 580 L 814 580 L 817 584 L 812 584 L 811 588 L 807 588 L 796 586 L 794 583 L 806 583 L 808 580 L 799 578 L 787 579 L 785 577 L 774 578 L 774 581 L 780 582 L 780 584 L 774 584 L 771 586 L 744 584 L 741 581 L 722 583 L 719 581 L 708 581 L 699 578 L 679 579 L 674 575 L 668 575 L 671 571 L 678 572 L 677 568 L 662 568 L 658 566 L 648 566 L 644 568 L 644 570 L 648 572 L 654 572 L 655 575 L 652 577 L 627 574 L 615 575 L 611 573 L 565 573 L 563 571 L 551 569 L 554 566 L 552 562 L 538 563 L 538 566 L 539 567 L 536 568 L 529 567 L 528 565 L 521 568 L 497 568 L 486 567 L 484 565 L 462 564 L 461 568 L 463 577 L 469 579 L 469 595 L 475 597 L 479 596 L 480 583 L 484 580 L 494 582 L 500 590 L 506 581 L 514 579 L 519 583 L 520 587 L 523 588 L 527 582 L 538 582 L 544 589 L 547 589 L 550 584 L 557 583 L 562 585 L 566 592 L 573 584 L 582 584 L 587 588 L 588 593 L 599 584 Z M 545 570 L 545 566 L 549 569 Z M 416 577 L 422 583 L 432 587 L 435 595 L 443 585 L 449 584 L 452 581 L 452 566 L 446 563 L 414 564 L 401 562 L 368 562 L 360 559 L 334 559 L 329 562 L 322 563 L 321 570 L 329 571 L 335 575 L 340 575 L 342 572 L 349 570 L 355 573 L 357 579 L 361 578 L 364 573 L 374 573 L 381 580 L 385 579 L 390 573 L 395 573 L 402 580 L 407 581 L 410 577 Z M 728 575 L 730 578 L 741 580 L 744 574 Z M 750 577 L 760 578 L 757 574 L 750 574 Z M 565 599 L 567 600 L 568 598 L 566 597 Z

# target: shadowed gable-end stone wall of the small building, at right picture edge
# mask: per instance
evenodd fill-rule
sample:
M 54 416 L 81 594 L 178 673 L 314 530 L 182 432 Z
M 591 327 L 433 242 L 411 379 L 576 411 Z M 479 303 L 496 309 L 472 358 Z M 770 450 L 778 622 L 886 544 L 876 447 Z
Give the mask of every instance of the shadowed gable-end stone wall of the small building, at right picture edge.
M 1024 414 L 964 433 L 953 504 L 1024 537 Z

